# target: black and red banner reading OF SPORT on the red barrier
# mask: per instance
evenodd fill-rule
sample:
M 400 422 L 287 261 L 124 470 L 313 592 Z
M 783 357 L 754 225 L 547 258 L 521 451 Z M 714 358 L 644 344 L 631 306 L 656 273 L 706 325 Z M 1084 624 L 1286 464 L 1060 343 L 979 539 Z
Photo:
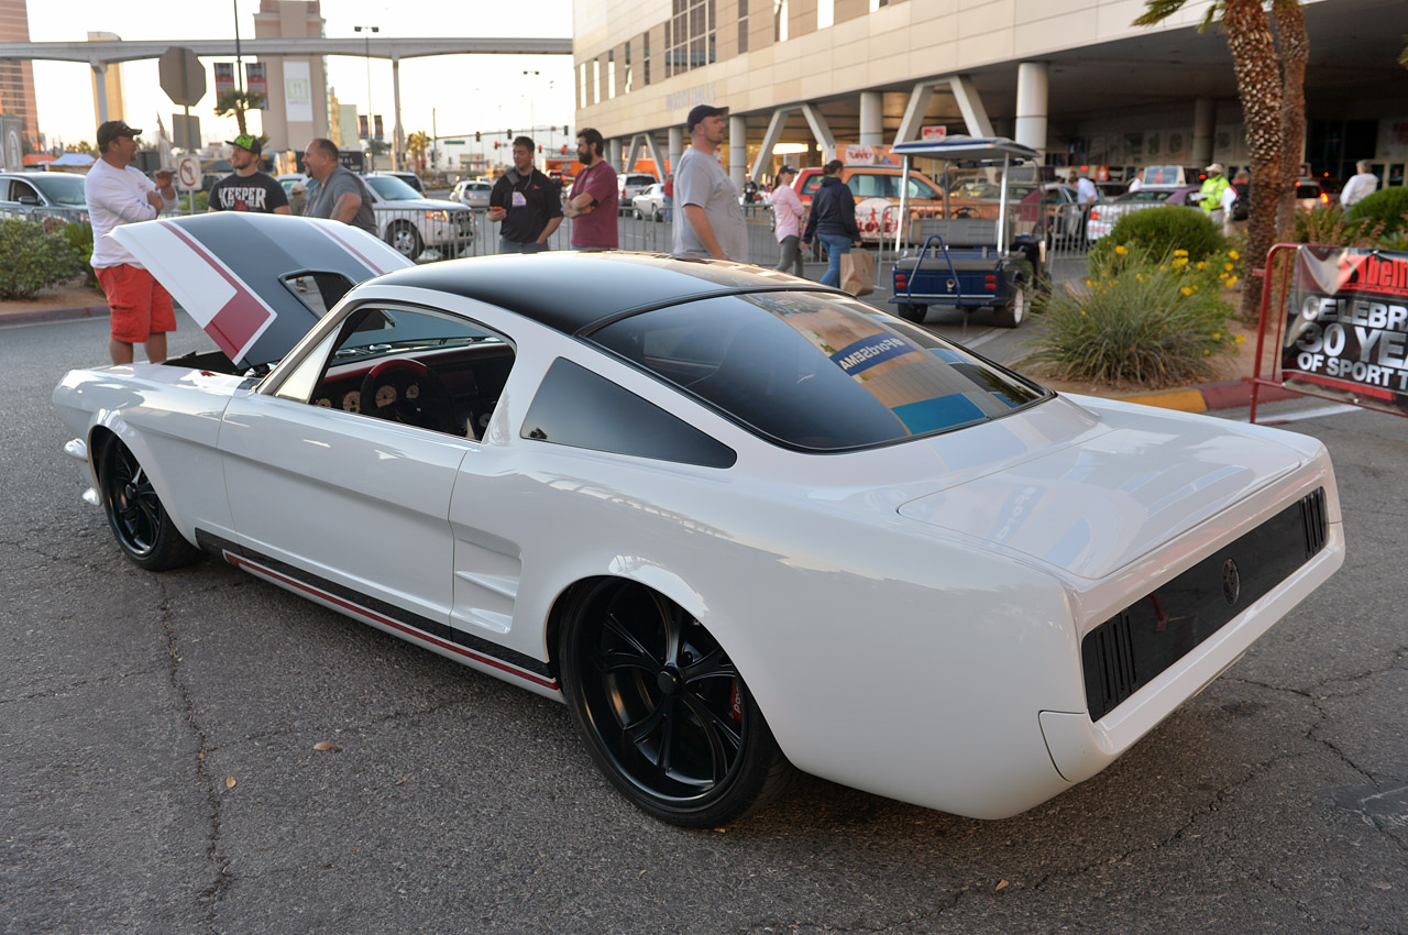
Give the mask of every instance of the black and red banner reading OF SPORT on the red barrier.
M 1408 411 L 1408 253 L 1297 249 L 1281 380 L 1311 396 Z

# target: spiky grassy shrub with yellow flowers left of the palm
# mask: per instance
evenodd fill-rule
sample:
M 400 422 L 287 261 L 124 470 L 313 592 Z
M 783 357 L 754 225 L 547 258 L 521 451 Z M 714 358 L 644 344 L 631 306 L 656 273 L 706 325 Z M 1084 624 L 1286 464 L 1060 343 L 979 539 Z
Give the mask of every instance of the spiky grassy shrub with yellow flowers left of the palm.
M 1146 389 L 1211 377 L 1214 358 L 1238 344 L 1218 287 L 1236 282 L 1225 269 L 1236 258 L 1150 261 L 1128 248 L 1117 256 L 1117 275 L 1052 290 L 1025 362 L 1066 380 Z

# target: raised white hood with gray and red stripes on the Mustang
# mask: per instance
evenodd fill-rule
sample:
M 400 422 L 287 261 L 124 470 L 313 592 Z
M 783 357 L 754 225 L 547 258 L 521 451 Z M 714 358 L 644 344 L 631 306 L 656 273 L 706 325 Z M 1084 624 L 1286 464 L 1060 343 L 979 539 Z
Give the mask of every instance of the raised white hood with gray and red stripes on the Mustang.
M 322 311 L 290 277 L 358 284 L 410 266 L 370 234 L 338 221 L 220 211 L 124 224 L 108 237 L 132 252 L 235 366 L 273 363 Z

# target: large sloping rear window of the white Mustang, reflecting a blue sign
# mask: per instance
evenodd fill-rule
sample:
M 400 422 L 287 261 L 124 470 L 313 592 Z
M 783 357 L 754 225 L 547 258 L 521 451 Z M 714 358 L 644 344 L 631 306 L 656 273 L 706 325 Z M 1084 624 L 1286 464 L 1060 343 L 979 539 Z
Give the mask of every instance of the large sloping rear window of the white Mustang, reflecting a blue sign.
M 849 451 L 1000 418 L 1042 387 L 821 293 L 753 293 L 631 315 L 590 339 L 788 448 Z

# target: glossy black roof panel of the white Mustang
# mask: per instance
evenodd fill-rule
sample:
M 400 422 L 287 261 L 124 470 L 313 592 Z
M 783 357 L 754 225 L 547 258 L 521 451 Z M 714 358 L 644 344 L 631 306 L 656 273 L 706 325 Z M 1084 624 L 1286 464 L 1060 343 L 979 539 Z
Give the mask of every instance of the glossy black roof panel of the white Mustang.
M 566 334 L 625 313 L 707 296 L 767 289 L 834 291 L 760 266 L 614 251 L 445 261 L 387 273 L 376 280 L 382 283 L 465 296 Z

